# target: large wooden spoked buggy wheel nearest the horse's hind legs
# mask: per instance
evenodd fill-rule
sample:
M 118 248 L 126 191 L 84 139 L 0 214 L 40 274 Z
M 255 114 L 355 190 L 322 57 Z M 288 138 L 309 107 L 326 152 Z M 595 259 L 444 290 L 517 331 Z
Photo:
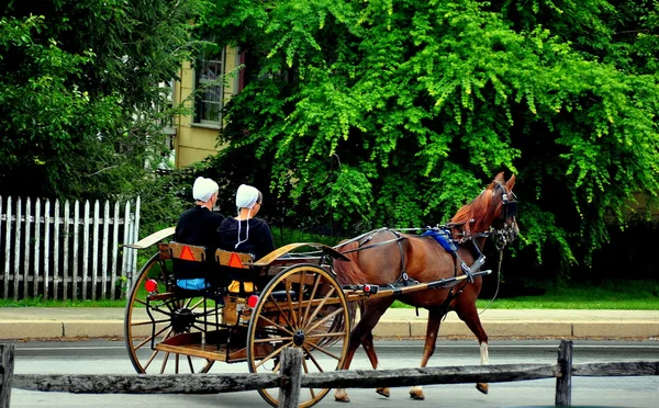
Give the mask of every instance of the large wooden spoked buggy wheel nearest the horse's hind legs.
M 299 264 L 276 275 L 259 294 L 247 330 L 247 364 L 252 373 L 278 373 L 283 348 L 302 349 L 303 373 L 340 370 L 348 350 L 351 311 L 331 272 Z M 300 407 L 319 403 L 330 388 L 303 388 Z M 277 388 L 259 389 L 271 406 Z

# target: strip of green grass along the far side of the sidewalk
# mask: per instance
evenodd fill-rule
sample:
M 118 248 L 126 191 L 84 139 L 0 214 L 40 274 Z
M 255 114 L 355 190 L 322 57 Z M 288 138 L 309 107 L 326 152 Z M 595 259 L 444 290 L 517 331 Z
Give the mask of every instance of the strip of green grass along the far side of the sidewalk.
M 605 281 L 600 284 L 573 284 L 550 288 L 540 296 L 491 298 L 481 296 L 479 308 L 492 309 L 617 309 L 659 310 L 659 282 Z M 43 301 L 0 299 L 0 307 L 124 307 L 125 301 Z M 393 307 L 412 307 L 394 302 Z

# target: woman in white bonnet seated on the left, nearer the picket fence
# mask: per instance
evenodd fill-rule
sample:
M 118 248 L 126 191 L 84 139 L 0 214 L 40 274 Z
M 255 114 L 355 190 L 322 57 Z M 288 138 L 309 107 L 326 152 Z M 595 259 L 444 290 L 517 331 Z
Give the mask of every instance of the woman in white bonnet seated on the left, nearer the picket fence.
M 211 179 L 198 177 L 192 185 L 194 206 L 187 209 L 176 224 L 175 240 L 181 243 L 206 247 L 214 252 L 219 246 L 216 230 L 224 216 L 213 213 L 220 186 Z M 208 286 L 205 277 L 211 265 L 186 262 L 175 268 L 177 285 L 187 290 L 202 290 Z

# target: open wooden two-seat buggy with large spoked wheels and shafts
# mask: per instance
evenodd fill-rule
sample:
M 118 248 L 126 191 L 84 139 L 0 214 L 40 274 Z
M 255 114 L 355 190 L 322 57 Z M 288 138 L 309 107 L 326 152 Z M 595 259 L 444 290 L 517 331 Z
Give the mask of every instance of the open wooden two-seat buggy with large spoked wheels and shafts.
M 134 276 L 125 309 L 126 348 L 138 373 L 208 373 L 215 362 L 245 362 L 252 373 L 277 373 L 286 347 L 302 350 L 304 373 L 340 370 L 357 301 L 453 286 L 467 277 L 405 287 L 340 285 L 332 261 L 348 259 L 322 243 L 290 243 L 254 260 L 246 253 L 208 253 L 203 247 L 163 242 L 172 235 L 174 228 L 167 228 L 126 245 L 158 245 Z M 299 252 L 306 248 L 313 250 Z M 176 262 L 209 260 L 234 284 L 198 291 L 177 285 Z M 302 389 L 300 407 L 315 405 L 328 392 Z M 277 406 L 278 389 L 259 394 Z

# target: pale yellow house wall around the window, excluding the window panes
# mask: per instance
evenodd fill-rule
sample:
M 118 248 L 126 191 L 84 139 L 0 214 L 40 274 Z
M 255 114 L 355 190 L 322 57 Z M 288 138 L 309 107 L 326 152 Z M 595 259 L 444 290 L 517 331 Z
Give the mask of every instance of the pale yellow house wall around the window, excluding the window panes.
M 239 56 L 235 48 L 227 47 L 225 56 L 226 72 L 233 71 L 239 61 Z M 193 97 L 194 90 L 194 69 L 190 63 L 183 64 L 179 72 L 180 81 L 175 84 L 175 103 L 185 101 L 186 114 L 180 114 L 175 120 L 176 136 L 174 139 L 175 166 L 182 168 L 194 162 L 201 161 L 209 156 L 217 152 L 217 135 L 220 126 L 194 123 Z M 227 78 L 224 87 L 224 102 L 237 93 L 238 79 L 235 76 Z

